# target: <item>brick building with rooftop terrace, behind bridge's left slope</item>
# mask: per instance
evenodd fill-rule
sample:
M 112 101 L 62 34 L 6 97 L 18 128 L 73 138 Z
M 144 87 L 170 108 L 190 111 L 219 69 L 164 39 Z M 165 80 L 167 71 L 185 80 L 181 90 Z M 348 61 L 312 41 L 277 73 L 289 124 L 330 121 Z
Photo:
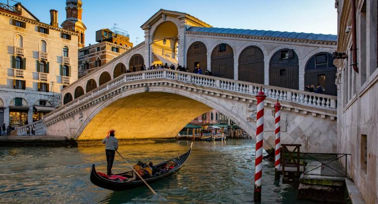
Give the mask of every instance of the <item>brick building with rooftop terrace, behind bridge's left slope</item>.
M 133 47 L 129 35 L 118 30 L 96 31 L 96 41 L 97 44 L 79 49 L 79 78 Z

